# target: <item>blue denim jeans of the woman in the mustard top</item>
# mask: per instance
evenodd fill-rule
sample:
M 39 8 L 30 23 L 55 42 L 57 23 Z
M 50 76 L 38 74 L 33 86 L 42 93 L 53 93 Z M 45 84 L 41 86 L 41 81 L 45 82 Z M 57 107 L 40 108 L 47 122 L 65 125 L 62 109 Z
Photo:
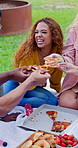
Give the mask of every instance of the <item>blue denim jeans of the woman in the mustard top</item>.
M 17 86 L 19 86 L 18 82 L 7 81 L 3 84 L 4 94 L 7 94 Z M 42 104 L 58 105 L 58 99 L 48 90 L 37 86 L 33 90 L 28 90 L 18 105 L 24 106 L 26 103 L 30 103 L 32 107 L 37 108 Z

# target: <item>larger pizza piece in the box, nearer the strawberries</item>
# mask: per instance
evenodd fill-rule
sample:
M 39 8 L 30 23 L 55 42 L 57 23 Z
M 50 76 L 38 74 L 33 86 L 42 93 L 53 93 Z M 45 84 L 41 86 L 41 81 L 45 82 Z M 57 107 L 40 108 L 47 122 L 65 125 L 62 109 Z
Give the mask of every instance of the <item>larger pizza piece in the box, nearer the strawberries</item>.
M 65 130 L 71 123 L 63 121 L 54 121 L 51 131 L 62 132 Z

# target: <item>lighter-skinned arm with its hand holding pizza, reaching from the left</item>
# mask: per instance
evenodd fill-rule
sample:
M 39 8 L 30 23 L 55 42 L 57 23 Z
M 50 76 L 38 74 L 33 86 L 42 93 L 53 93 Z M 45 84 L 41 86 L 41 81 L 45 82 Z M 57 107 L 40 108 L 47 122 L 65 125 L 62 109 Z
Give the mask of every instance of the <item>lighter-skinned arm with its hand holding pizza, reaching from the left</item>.
M 42 86 L 46 83 L 48 78 L 50 78 L 48 73 L 41 74 L 40 71 L 34 71 L 17 88 L 0 97 L 0 117 L 5 116 L 17 104 L 19 104 L 24 94 L 30 87 L 39 85 Z

